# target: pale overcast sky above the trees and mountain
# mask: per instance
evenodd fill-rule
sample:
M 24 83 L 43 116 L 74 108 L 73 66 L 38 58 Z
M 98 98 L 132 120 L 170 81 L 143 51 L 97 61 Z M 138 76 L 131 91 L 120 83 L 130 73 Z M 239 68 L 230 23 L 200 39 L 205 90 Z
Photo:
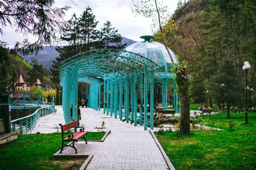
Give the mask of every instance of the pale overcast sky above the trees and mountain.
M 177 8 L 178 0 L 162 1 L 169 7 L 169 13 L 173 13 Z M 73 2 L 77 5 L 72 3 L 71 0 L 56 0 L 55 2 L 55 6 L 58 8 L 65 5 L 71 7 L 66 12 L 65 20 L 70 19 L 73 13 L 76 13 L 79 17 L 86 6 L 90 6 L 96 16 L 96 20 L 99 21 L 98 29 L 103 26 L 106 20 L 110 20 L 112 27 L 118 29 L 118 32 L 126 38 L 140 41 L 140 36 L 152 34 L 151 20 L 142 16 L 135 17 L 131 12 L 130 4 L 132 4 L 132 0 L 73 0 Z M 8 42 L 9 47 L 14 47 L 14 42 L 24 39 L 22 33 L 15 33 L 15 29 L 9 26 L 4 27 L 3 31 L 4 35 L 1 39 Z M 28 35 L 28 38 L 30 41 L 33 41 L 32 36 Z

